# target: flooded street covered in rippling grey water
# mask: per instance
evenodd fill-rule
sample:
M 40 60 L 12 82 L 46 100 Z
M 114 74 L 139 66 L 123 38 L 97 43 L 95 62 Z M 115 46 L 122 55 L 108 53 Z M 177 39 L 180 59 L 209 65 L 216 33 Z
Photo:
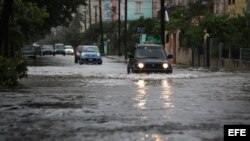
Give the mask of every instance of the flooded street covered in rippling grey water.
M 126 74 L 103 58 L 38 57 L 15 91 L 0 92 L 1 141 L 222 141 L 250 124 L 250 74 L 174 67 Z

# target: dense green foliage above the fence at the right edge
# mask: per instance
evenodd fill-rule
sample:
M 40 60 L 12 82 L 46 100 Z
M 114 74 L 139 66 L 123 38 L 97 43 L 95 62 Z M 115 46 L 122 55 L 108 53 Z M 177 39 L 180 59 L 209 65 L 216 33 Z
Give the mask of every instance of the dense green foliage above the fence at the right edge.
M 225 47 L 242 48 L 249 44 L 248 15 L 230 17 L 228 15 L 206 15 L 200 23 L 210 37 L 218 38 Z

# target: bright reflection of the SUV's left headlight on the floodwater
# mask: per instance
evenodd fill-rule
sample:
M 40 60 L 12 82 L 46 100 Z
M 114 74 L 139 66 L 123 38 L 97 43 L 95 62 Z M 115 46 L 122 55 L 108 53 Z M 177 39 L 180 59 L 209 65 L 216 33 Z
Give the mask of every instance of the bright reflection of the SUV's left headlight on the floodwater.
M 147 103 L 147 99 L 146 99 L 146 82 L 144 80 L 138 80 L 136 83 L 137 86 L 137 94 L 135 97 L 135 100 L 137 101 L 135 107 L 139 108 L 139 109 L 146 109 L 146 103 Z

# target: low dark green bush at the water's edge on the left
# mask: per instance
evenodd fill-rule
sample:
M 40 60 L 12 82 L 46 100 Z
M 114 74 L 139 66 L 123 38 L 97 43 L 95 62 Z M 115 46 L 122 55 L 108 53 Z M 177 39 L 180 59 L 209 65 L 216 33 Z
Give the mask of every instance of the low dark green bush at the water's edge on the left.
M 17 55 L 15 58 L 0 56 L 0 90 L 14 88 L 18 79 L 27 77 L 27 61 Z

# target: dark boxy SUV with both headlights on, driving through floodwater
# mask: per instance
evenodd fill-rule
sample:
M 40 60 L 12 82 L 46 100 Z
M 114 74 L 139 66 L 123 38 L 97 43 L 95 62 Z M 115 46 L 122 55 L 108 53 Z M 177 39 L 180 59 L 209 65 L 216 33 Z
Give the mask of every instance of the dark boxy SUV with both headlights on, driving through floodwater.
M 129 55 L 127 73 L 163 72 L 172 73 L 172 66 L 168 55 L 161 45 L 139 44 L 134 47 L 133 54 Z

